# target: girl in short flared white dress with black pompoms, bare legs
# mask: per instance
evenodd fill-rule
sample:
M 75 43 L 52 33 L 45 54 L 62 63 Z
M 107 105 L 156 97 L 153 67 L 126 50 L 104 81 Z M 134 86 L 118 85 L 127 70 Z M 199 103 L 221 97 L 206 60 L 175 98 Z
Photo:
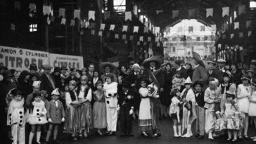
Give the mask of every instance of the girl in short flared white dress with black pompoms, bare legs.
M 34 133 L 37 132 L 37 144 L 40 144 L 41 126 L 48 123 L 46 119 L 47 110 L 45 107 L 45 103 L 42 100 L 41 93 L 33 93 L 33 100 L 32 103 L 30 103 L 29 113 L 30 116 L 27 122 L 29 122 L 29 124 L 31 125 L 31 131 L 28 143 L 32 143 Z

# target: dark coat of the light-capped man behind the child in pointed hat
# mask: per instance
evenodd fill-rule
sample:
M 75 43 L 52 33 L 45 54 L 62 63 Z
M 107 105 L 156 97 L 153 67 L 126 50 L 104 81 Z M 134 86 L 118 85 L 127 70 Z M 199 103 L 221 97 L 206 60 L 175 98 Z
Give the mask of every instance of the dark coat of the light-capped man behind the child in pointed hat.
M 51 92 L 56 89 L 56 82 L 54 80 L 54 77 L 49 74 L 49 76 L 51 77 L 51 79 L 53 79 L 53 84 L 54 87 L 51 85 L 51 81 L 49 80 L 49 78 L 46 76 L 46 74 L 43 74 L 41 76 L 41 84 L 40 84 L 40 90 L 44 90 L 47 91 L 48 94 L 48 98 L 47 100 L 51 100 Z

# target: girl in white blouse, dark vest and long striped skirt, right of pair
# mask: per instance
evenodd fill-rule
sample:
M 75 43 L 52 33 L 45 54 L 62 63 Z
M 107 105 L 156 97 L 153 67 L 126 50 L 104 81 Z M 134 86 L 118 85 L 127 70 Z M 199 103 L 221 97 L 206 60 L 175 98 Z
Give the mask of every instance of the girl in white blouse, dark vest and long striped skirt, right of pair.
M 79 138 L 84 135 L 88 137 L 91 129 L 91 88 L 88 85 L 88 77 L 83 75 L 80 78 L 81 86 L 77 87 L 77 96 L 81 105 L 78 107 L 79 114 Z M 84 131 L 84 133 L 82 133 Z

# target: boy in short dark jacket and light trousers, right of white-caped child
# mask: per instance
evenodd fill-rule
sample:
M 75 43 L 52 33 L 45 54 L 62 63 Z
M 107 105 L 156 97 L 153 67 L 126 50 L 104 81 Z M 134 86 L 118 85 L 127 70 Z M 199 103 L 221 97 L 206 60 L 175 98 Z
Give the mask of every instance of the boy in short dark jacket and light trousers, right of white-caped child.
M 203 83 L 196 81 L 193 84 L 196 96 L 196 138 L 201 139 L 205 136 L 205 93 L 202 91 Z

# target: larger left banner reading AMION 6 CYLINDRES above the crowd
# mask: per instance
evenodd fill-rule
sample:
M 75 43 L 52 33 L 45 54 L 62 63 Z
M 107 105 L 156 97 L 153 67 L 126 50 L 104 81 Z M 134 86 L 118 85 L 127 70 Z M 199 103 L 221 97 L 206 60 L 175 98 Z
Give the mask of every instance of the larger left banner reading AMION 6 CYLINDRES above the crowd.
M 41 65 L 49 64 L 49 53 L 34 51 L 24 48 L 11 48 L 0 46 L 0 65 L 18 71 L 28 70 L 30 64 L 34 63 L 38 68 Z

